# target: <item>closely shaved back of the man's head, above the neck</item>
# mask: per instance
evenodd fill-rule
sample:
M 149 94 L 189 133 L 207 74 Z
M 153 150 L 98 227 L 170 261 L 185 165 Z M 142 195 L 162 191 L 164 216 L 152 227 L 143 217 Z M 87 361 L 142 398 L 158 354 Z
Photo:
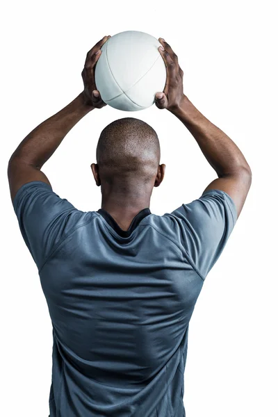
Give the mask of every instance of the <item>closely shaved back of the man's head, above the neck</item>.
M 149 183 L 155 180 L 160 158 L 156 131 L 142 120 L 124 117 L 101 131 L 97 165 L 103 185 L 124 188 Z

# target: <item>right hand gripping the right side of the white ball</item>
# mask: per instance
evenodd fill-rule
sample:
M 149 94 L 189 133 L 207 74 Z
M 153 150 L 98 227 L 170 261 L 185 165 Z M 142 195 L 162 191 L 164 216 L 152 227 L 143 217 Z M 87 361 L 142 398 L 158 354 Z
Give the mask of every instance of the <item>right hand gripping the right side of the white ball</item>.
M 156 107 L 167 108 L 169 111 L 173 111 L 179 108 L 181 101 L 185 95 L 183 94 L 183 70 L 179 67 L 178 57 L 172 51 L 169 44 L 163 40 L 158 39 L 161 42 L 163 49 L 158 47 L 167 70 L 167 79 L 163 92 L 156 93 Z

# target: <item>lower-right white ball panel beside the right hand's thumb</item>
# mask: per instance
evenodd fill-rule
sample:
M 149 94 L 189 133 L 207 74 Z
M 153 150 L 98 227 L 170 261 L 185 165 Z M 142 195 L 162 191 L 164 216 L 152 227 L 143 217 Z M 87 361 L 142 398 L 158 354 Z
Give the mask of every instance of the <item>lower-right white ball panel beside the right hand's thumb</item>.
M 125 93 L 138 106 L 150 107 L 154 104 L 156 92 L 164 90 L 166 77 L 165 63 L 163 58 L 159 56 L 147 74 Z

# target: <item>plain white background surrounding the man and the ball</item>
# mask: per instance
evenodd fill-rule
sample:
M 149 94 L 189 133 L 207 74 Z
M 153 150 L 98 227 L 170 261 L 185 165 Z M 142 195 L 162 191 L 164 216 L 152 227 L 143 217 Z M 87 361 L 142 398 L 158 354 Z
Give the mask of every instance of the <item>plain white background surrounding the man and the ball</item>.
M 89 49 L 104 35 L 160 36 L 179 56 L 184 92 L 236 142 L 252 187 L 209 273 L 189 326 L 186 417 L 275 417 L 277 408 L 277 16 L 271 1 L 7 1 L 1 11 L 1 416 L 47 417 L 51 320 L 10 200 L 19 142 L 83 89 Z M 217 176 L 186 127 L 152 106 L 85 116 L 42 167 L 54 191 L 97 210 L 90 164 L 113 120 L 137 117 L 161 141 L 165 180 L 151 211 L 173 211 Z M 275 398 L 276 397 L 276 398 Z M 177 416 L 179 417 L 179 416 Z

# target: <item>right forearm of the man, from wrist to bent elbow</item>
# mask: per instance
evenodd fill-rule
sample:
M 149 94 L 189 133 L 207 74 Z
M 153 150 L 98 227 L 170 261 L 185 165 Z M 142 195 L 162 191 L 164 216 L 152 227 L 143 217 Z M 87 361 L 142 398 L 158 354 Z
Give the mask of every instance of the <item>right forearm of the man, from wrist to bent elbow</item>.
M 242 169 L 250 170 L 245 157 L 233 140 L 206 119 L 186 96 L 181 106 L 171 113 L 188 128 L 218 177 L 236 174 Z

